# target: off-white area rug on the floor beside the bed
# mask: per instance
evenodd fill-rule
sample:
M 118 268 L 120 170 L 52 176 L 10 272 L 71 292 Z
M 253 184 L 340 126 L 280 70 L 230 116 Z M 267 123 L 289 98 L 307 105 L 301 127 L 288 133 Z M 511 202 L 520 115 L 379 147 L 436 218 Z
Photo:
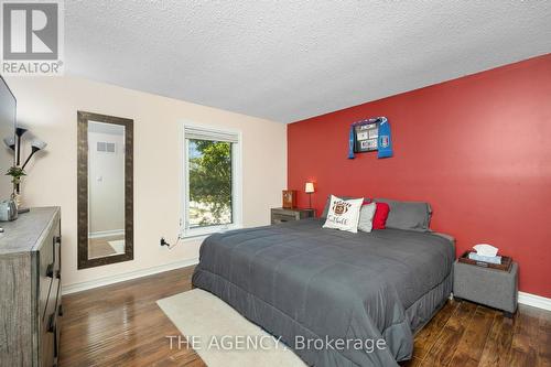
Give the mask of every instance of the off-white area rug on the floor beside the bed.
M 201 289 L 156 303 L 209 367 L 306 366 L 283 343 Z M 176 347 L 177 341 L 173 342 Z

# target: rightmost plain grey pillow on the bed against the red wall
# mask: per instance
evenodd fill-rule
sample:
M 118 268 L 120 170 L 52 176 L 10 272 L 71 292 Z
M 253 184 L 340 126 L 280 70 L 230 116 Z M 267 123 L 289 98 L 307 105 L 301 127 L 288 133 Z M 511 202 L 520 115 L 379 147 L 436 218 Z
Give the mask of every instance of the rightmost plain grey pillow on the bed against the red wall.
M 387 228 L 430 231 L 432 208 L 429 203 L 399 202 L 389 198 L 376 198 L 375 202 L 387 203 L 390 206 Z

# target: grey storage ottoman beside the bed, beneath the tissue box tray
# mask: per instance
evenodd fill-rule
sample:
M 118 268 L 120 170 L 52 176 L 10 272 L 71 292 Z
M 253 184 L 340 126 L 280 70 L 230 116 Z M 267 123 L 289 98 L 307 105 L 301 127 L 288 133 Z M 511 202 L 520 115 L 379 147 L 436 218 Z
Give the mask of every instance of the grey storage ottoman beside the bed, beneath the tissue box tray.
M 453 295 L 503 310 L 506 316 L 511 317 L 517 311 L 517 279 L 516 262 L 509 271 L 503 271 L 456 260 L 453 270 Z

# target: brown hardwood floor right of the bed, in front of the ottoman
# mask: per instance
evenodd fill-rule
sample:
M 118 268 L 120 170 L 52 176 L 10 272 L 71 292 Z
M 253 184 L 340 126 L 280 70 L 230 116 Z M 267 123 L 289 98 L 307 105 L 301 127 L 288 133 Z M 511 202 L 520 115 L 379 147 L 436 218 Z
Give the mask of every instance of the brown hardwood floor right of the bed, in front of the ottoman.
M 402 366 L 551 366 L 551 312 L 519 305 L 514 319 L 450 301 L 415 335 Z

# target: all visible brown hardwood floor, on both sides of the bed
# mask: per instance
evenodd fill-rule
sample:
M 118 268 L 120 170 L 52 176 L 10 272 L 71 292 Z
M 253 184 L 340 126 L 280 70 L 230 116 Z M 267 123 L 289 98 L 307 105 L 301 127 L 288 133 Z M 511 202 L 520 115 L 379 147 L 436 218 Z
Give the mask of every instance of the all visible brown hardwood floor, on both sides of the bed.
M 190 290 L 192 272 L 179 269 L 64 296 L 60 366 L 205 366 L 185 345 L 170 348 L 166 336 L 180 333 L 155 303 Z M 520 305 L 510 320 L 449 301 L 414 343 L 413 358 L 401 366 L 549 367 L 551 312 Z

